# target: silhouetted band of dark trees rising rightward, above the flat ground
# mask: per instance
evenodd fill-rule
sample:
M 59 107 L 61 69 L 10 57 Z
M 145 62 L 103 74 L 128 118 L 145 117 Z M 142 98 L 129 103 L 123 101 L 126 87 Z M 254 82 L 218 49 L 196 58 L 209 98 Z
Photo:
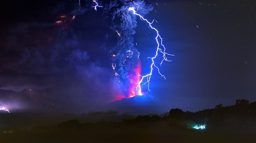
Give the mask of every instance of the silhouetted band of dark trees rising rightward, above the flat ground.
M 237 100 L 233 106 L 217 105 L 214 109 L 198 112 L 184 112 L 181 109 L 171 109 L 169 115 L 163 117 L 138 116 L 123 122 L 80 123 L 79 120 L 68 120 L 53 126 L 38 126 L 32 132 L 103 132 L 127 130 L 188 130 L 195 125 L 206 125 L 207 130 L 222 131 L 255 131 L 256 102 L 249 104 L 248 100 Z M 239 129 L 239 130 L 238 130 Z

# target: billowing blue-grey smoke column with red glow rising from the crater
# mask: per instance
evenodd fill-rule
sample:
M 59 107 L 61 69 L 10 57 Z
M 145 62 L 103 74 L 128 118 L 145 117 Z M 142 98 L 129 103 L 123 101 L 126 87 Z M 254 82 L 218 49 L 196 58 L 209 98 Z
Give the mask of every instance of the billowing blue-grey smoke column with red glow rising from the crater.
M 143 0 L 136 1 L 136 4 L 140 5 L 138 12 L 143 15 L 153 10 L 153 7 Z M 110 29 L 116 31 L 118 37 L 117 46 L 110 50 L 110 54 L 112 67 L 118 78 L 119 87 L 124 89 L 125 97 L 142 95 L 141 91 L 135 91 L 141 80 L 141 64 L 139 51 L 133 44 L 133 35 L 137 27 L 136 15 L 128 10 L 133 5 L 133 1 L 115 0 L 103 7 L 104 11 L 111 15 Z

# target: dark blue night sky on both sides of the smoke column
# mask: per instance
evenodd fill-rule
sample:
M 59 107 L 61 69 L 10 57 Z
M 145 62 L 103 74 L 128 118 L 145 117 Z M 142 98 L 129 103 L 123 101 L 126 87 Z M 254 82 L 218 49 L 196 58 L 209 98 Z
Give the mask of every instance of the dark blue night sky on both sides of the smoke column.
M 154 69 L 150 82 L 148 94 L 161 101 L 163 112 L 256 101 L 256 1 L 147 2 L 154 9 L 145 17 L 157 20 L 153 25 L 166 52 L 175 55 L 160 67 L 166 80 Z M 103 8 L 95 11 L 90 0 L 81 0 L 81 9 L 78 0 L 0 3 L 1 108 L 81 113 L 117 99 L 108 46 L 118 37 Z M 133 37 L 143 74 L 155 51 L 155 33 L 137 21 Z

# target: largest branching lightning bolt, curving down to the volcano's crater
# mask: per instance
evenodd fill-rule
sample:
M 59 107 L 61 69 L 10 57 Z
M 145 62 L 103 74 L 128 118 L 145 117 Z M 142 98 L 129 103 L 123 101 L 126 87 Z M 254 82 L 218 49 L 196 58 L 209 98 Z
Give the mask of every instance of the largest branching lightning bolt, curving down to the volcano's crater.
M 137 5 L 137 7 L 138 7 L 137 10 L 135 11 L 134 7 L 130 7 L 130 8 L 128 9 L 128 11 L 132 11 L 132 13 L 133 13 L 134 15 L 137 15 L 137 16 L 140 17 L 141 20 L 146 21 L 146 22 L 148 23 L 149 27 L 150 27 L 151 29 L 153 29 L 153 30 L 157 33 L 157 36 L 155 37 L 155 40 L 156 40 L 156 42 L 157 42 L 157 50 L 156 50 L 156 52 L 155 52 L 155 56 L 154 56 L 154 57 L 148 57 L 148 59 L 151 59 L 151 61 L 152 61 L 152 64 L 150 65 L 150 69 L 151 69 L 151 70 L 150 70 L 150 73 L 147 74 L 147 75 L 144 75 L 144 76 L 143 76 L 143 75 L 138 75 L 138 76 L 141 76 L 142 78 L 141 78 L 141 80 L 140 80 L 139 83 L 136 83 L 136 84 L 138 84 L 138 86 L 135 87 L 135 92 L 136 92 L 138 95 L 142 95 L 141 84 L 142 84 L 142 82 L 143 82 L 144 79 L 147 79 L 147 81 L 144 82 L 144 83 L 142 84 L 142 86 L 145 85 L 145 84 L 147 84 L 147 85 L 148 85 L 148 91 L 150 91 L 149 82 L 150 82 L 151 75 L 152 75 L 152 72 L 153 72 L 153 67 L 157 68 L 158 73 L 161 75 L 161 77 L 165 78 L 165 76 L 161 74 L 160 69 L 157 67 L 157 65 L 155 65 L 155 62 L 154 62 L 154 59 L 158 56 L 158 53 L 160 52 L 160 53 L 163 55 L 163 56 L 162 56 L 163 59 L 162 59 L 160 65 L 162 65 L 163 61 L 171 61 L 171 60 L 168 60 L 168 59 L 167 59 L 166 55 L 169 55 L 169 56 L 174 56 L 174 55 L 165 52 L 166 48 L 165 48 L 165 45 L 163 45 L 163 39 L 162 39 L 162 37 L 159 35 L 158 30 L 152 26 L 154 20 L 153 20 L 152 22 L 149 22 L 149 21 L 148 21 L 147 19 L 145 19 L 143 16 L 141 16 L 140 14 L 138 14 L 137 11 L 138 11 L 138 9 L 139 9 L 139 5 L 136 4 L 134 1 L 133 1 L 133 3 L 134 3 L 135 5 Z M 160 39 L 160 43 L 159 43 L 159 39 Z M 162 48 L 160 48 L 160 45 L 161 45 Z M 166 79 L 166 78 L 165 78 L 165 79 Z

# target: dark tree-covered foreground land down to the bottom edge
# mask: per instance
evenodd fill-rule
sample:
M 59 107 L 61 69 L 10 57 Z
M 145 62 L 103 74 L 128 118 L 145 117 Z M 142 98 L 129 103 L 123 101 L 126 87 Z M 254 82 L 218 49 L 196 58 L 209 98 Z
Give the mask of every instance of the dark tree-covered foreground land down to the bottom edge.
M 195 130 L 195 125 L 206 125 Z M 1 134 L 1 142 L 256 142 L 256 102 L 237 100 L 233 106 L 169 115 L 137 116 L 122 122 L 81 123 L 68 120 L 30 131 Z M 40 139 L 39 139 L 40 138 Z M 39 139 L 39 140 L 38 140 Z

